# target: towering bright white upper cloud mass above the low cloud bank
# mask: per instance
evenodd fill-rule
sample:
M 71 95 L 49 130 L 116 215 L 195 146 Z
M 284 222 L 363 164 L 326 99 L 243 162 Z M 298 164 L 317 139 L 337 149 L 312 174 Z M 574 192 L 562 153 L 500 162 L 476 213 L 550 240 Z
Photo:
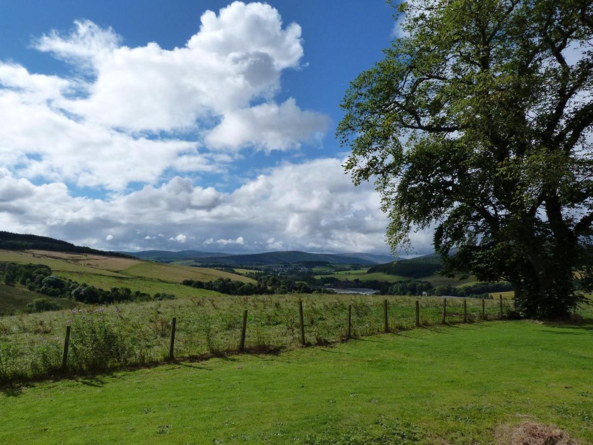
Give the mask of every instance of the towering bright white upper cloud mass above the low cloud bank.
M 37 39 L 71 77 L 0 62 L 0 163 L 30 179 L 123 190 L 167 169 L 222 171 L 220 151 L 288 150 L 323 133 L 326 116 L 274 100 L 303 54 L 298 24 L 283 28 L 276 9 L 243 2 L 201 22 L 172 50 L 122 46 L 88 20 Z

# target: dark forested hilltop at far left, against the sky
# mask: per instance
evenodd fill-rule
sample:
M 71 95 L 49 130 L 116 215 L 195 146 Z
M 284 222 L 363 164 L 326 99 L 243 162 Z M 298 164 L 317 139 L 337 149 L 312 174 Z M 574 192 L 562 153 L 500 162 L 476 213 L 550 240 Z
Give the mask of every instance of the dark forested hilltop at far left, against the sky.
M 67 241 L 56 240 L 46 236 L 11 233 L 0 231 L 0 249 L 5 250 L 51 250 L 53 252 L 75 252 L 92 253 L 94 255 L 123 256 L 121 252 L 104 252 L 103 250 L 91 249 L 91 247 L 75 246 Z

